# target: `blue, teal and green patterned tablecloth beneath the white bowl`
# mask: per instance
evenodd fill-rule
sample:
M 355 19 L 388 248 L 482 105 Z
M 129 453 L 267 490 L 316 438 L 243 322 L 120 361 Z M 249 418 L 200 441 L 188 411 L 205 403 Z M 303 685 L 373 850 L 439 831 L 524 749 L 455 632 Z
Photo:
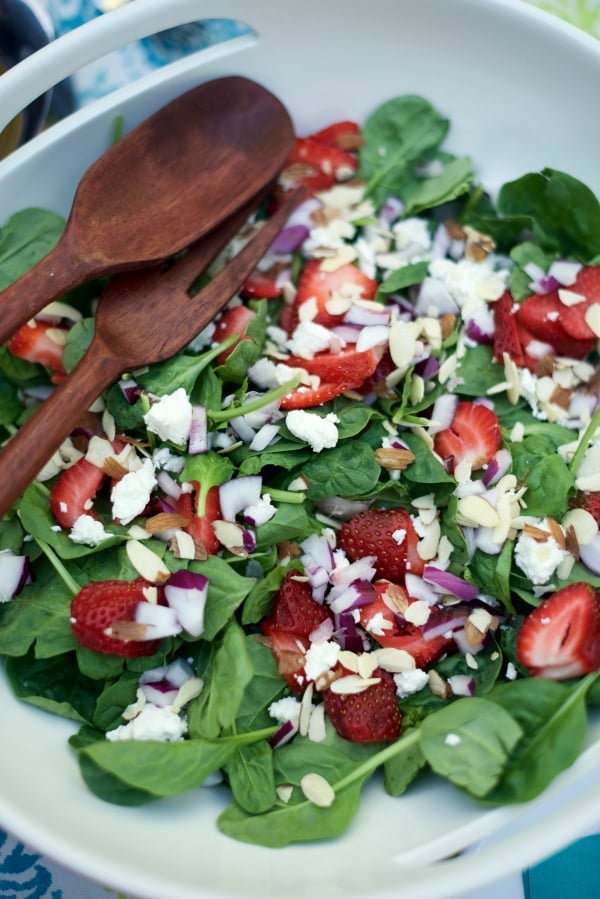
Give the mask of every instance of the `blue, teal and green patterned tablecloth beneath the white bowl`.
M 127 0 L 47 0 L 61 34 Z M 142 3 L 143 0 L 135 0 Z M 168 0 L 165 0 L 168 2 Z M 415 0 L 417 2 L 417 0 Z M 600 38 L 600 0 L 527 0 Z M 82 106 L 182 53 L 226 40 L 242 31 L 226 20 L 192 24 L 124 48 L 88 66 L 72 81 Z M 400 894 L 399 894 L 400 895 Z M 465 899 L 595 899 L 600 896 L 598 833 L 589 834 L 541 864 L 469 893 Z M 125 899 L 75 875 L 0 829 L 0 899 Z M 167 899 L 167 897 L 165 897 Z

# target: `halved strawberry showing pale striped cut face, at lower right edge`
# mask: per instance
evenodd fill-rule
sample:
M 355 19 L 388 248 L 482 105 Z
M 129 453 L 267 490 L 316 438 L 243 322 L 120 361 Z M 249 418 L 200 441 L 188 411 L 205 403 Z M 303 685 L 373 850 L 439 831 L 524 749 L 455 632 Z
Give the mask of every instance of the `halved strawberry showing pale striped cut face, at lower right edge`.
M 517 636 L 517 658 L 532 677 L 566 680 L 600 668 L 600 591 L 578 582 L 531 612 Z

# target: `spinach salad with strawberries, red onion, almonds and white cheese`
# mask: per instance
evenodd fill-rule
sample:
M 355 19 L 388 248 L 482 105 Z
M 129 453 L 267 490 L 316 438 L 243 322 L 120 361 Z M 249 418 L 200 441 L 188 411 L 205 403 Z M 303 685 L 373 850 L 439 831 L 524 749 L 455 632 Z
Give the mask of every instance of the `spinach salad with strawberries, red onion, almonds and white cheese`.
M 8 680 L 77 722 L 100 799 L 214 786 L 221 832 L 275 848 L 345 833 L 374 775 L 495 807 L 582 751 L 600 205 L 549 168 L 490 195 L 449 128 L 402 94 L 299 137 L 213 267 L 302 185 L 240 293 L 124 372 L 0 523 Z M 2 282 L 35 261 L 23 233 L 39 257 L 63 227 L 15 213 Z M 5 439 L 89 345 L 101 288 L 2 349 Z

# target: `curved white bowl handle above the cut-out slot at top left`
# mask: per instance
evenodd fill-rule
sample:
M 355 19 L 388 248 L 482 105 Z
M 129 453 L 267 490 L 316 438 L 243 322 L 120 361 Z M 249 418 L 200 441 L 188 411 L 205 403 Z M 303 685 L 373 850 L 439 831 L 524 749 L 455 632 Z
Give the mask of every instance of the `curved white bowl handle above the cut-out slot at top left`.
M 251 3 L 232 2 L 233 18 L 251 13 Z M 223 18 L 216 0 L 144 0 L 98 16 L 62 35 L 0 78 L 0 131 L 33 100 L 83 66 L 133 41 L 201 18 Z M 203 50 L 198 51 L 199 54 Z

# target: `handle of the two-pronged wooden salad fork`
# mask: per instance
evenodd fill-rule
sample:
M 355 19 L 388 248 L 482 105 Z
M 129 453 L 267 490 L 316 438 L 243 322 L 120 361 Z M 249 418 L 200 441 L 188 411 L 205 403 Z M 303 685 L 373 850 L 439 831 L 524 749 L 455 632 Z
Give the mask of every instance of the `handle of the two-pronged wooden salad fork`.
M 8 441 L 0 453 L 0 518 L 37 477 L 82 414 L 121 374 L 121 368 L 118 358 L 101 346 L 94 347 Z

